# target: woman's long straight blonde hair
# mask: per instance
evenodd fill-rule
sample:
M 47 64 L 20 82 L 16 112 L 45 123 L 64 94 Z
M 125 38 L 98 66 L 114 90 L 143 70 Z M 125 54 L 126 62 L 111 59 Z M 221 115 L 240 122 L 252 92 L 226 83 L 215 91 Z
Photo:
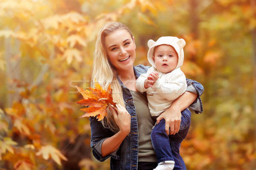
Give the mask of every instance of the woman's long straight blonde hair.
M 122 88 L 117 79 L 117 71 L 108 59 L 108 52 L 105 45 L 105 37 L 119 29 L 125 29 L 131 34 L 131 31 L 124 24 L 119 22 L 109 22 L 99 31 L 93 54 L 91 86 L 93 87 L 94 83 L 98 82 L 102 88 L 106 90 L 108 85 L 111 84 L 111 88 L 113 89 L 113 101 L 125 107 Z M 133 39 L 132 34 L 131 38 Z M 119 130 L 110 111 L 108 111 L 107 116 L 102 120 L 102 125 L 113 132 Z

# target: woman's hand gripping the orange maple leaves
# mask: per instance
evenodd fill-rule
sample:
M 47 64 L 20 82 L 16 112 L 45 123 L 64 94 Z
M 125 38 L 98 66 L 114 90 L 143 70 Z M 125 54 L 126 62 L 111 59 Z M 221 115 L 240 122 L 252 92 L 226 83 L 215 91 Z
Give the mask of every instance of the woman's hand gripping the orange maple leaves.
M 131 115 L 120 104 L 116 105 L 116 108 L 109 108 L 113 114 L 116 125 L 119 127 L 121 133 L 128 135 L 131 131 Z

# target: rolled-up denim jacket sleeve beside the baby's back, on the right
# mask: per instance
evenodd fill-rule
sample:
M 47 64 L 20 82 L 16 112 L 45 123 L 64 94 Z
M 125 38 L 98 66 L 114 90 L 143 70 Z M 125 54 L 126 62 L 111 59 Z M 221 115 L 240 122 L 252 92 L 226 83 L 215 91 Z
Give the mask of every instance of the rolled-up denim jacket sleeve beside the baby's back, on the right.
M 200 96 L 204 92 L 204 87 L 199 82 L 192 80 L 192 79 L 186 79 L 187 82 L 187 90 L 192 93 L 198 94 L 197 99 L 189 106 L 190 109 L 195 111 L 195 113 L 202 113 L 203 112 L 203 105 Z

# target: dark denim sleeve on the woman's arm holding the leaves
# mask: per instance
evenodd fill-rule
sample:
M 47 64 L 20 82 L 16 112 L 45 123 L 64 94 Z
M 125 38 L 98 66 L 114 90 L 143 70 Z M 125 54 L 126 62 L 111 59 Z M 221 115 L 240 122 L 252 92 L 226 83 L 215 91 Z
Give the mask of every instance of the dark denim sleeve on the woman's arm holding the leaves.
M 102 153 L 101 153 L 102 143 L 108 137 L 113 136 L 114 133 L 111 130 L 104 128 L 102 123 L 97 121 L 96 118 L 90 117 L 89 120 L 90 120 L 90 128 L 91 128 L 90 147 L 93 150 L 93 156 L 99 161 L 105 161 L 110 156 L 115 159 L 119 159 L 119 156 L 117 155 L 117 150 L 108 156 L 102 156 Z

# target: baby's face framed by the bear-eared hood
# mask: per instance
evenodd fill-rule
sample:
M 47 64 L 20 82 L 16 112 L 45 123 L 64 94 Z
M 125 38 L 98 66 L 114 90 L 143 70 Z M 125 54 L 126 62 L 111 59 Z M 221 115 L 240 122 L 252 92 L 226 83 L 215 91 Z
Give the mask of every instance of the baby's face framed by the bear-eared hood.
M 178 54 L 171 45 L 158 45 L 154 48 L 154 63 L 158 71 L 169 73 L 178 63 Z

